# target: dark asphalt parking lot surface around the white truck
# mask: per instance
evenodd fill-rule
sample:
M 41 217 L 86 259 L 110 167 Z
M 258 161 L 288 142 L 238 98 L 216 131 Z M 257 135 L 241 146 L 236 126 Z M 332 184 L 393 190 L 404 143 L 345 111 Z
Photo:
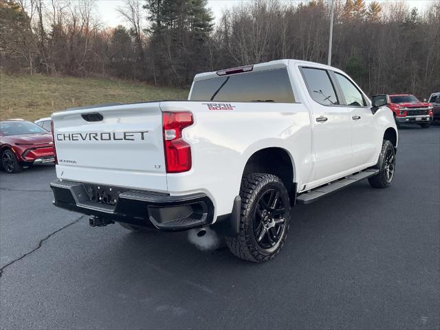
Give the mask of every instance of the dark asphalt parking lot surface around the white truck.
M 390 188 L 297 206 L 262 265 L 90 228 L 52 206 L 53 166 L 1 173 L 1 329 L 440 329 L 440 125 L 399 133 Z

